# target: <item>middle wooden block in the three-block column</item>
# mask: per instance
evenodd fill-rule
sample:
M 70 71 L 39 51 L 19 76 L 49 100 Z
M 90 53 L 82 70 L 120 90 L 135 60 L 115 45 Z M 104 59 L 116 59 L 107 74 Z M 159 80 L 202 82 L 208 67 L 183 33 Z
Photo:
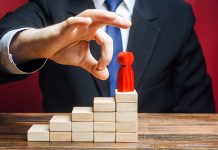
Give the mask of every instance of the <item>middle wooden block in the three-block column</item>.
M 72 122 L 72 132 L 93 132 L 93 122 Z

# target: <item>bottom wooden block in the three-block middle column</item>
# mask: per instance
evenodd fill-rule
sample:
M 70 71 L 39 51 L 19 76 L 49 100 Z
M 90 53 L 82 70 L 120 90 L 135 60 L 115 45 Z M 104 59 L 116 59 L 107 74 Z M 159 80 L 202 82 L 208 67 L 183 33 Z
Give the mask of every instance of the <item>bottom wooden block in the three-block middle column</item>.
M 72 141 L 92 142 L 94 140 L 93 132 L 72 132 Z

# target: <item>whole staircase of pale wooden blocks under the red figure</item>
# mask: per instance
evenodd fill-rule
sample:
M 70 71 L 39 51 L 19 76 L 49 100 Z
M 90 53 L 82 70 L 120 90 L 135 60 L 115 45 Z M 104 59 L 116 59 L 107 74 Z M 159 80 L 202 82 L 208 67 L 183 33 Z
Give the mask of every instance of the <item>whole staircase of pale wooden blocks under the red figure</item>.
M 92 107 L 74 107 L 70 115 L 54 115 L 49 125 L 34 124 L 28 141 L 137 142 L 138 95 L 115 92 L 95 97 Z

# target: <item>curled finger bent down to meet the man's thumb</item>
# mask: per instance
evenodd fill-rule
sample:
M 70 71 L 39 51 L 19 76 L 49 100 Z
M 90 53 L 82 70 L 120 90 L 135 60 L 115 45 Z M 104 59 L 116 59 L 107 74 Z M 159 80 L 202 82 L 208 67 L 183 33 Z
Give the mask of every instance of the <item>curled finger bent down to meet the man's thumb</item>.
M 102 29 L 97 30 L 95 40 L 101 46 L 101 57 L 98 61 L 98 70 L 104 70 L 111 62 L 113 56 L 113 40 Z

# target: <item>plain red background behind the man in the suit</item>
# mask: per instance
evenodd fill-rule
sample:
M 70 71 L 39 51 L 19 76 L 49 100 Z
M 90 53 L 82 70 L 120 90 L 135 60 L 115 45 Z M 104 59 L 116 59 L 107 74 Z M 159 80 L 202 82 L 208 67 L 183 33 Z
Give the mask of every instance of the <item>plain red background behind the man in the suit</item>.
M 27 0 L 0 0 L 0 18 Z M 218 0 L 187 0 L 196 17 L 195 30 L 203 48 L 207 71 L 212 78 L 218 112 Z M 43 112 L 38 73 L 29 78 L 0 85 L 0 112 Z

